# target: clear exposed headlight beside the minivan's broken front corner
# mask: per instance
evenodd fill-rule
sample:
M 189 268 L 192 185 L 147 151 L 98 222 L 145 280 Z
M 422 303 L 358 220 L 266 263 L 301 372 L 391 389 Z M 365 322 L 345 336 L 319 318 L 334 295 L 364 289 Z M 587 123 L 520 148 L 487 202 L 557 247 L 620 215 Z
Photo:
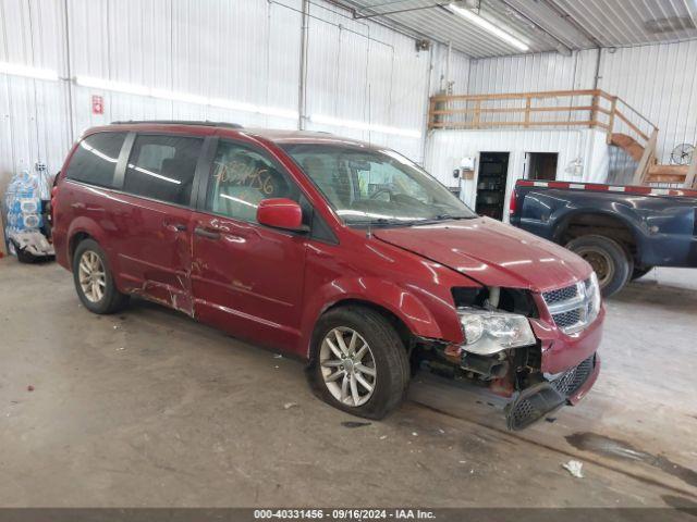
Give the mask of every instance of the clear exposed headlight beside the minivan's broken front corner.
M 536 343 L 530 323 L 524 315 L 477 308 L 460 308 L 457 315 L 465 334 L 465 351 L 490 356 Z

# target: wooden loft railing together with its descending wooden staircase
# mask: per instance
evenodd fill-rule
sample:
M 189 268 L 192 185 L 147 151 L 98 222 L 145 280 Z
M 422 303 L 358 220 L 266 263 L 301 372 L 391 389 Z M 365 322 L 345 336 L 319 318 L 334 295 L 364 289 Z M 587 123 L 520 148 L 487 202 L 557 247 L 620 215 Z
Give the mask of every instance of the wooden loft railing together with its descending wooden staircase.
M 689 165 L 669 165 L 656 157 L 658 127 L 622 98 L 600 89 L 437 95 L 431 97 L 429 129 L 502 127 L 591 127 L 638 163 L 634 185 L 670 184 L 697 189 L 697 153 Z

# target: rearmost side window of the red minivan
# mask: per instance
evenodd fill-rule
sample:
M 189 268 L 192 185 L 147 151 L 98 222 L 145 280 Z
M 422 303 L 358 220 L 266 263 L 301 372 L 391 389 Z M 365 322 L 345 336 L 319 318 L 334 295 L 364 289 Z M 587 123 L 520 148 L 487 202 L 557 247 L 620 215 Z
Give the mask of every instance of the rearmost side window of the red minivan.
M 113 188 L 113 173 L 126 133 L 99 133 L 83 139 L 65 176 L 76 182 Z

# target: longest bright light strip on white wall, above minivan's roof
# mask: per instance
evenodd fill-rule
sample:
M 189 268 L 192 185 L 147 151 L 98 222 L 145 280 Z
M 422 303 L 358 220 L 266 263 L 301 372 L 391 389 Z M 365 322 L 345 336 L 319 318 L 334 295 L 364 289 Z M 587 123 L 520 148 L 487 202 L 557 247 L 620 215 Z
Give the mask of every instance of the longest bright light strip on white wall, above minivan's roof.
M 83 87 L 90 87 L 101 90 L 112 90 L 114 92 L 124 92 L 126 95 L 147 96 L 160 100 L 171 100 L 180 101 L 182 103 L 218 107 L 220 109 L 230 109 L 233 111 L 254 112 L 268 116 L 288 117 L 289 120 L 297 120 L 298 117 L 297 111 L 291 111 L 276 107 L 255 105 L 254 103 L 227 100 L 223 98 L 207 98 L 205 96 L 192 95 L 189 92 L 176 92 L 173 90 L 146 87 L 144 85 L 110 82 L 108 79 L 94 78 L 90 76 L 77 76 L 75 77 L 75 83 Z

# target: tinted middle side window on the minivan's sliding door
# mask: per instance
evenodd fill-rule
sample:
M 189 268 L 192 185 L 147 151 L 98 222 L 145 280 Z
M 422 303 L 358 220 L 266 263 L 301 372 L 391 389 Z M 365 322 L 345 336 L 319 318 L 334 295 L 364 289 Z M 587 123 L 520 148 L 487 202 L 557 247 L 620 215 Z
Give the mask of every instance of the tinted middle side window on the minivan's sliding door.
M 189 204 L 203 142 L 201 138 L 175 135 L 139 135 L 133 144 L 123 190 L 168 203 Z

